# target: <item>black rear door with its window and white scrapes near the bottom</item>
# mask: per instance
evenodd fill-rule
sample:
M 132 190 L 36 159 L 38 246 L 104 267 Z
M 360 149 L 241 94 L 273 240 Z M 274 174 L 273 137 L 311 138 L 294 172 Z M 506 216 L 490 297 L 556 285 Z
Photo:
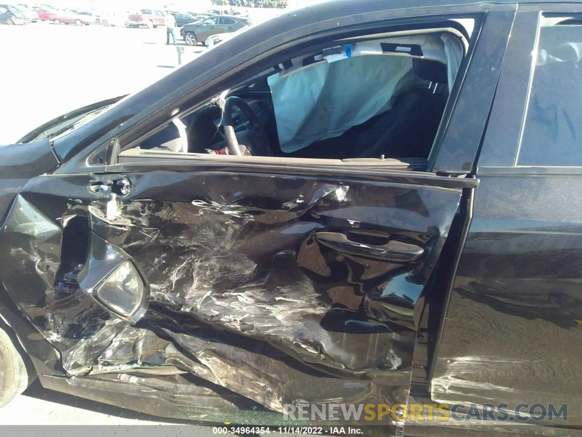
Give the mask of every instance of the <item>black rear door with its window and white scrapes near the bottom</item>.
M 518 421 L 582 424 L 582 196 L 572 189 L 582 177 L 581 35 L 580 5 L 516 14 L 434 361 L 435 400 L 487 399 Z

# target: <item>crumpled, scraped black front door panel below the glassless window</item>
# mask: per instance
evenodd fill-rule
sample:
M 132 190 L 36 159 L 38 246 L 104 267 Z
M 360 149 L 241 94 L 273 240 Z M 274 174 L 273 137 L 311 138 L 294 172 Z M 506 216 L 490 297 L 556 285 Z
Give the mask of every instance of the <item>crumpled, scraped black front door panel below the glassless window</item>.
M 406 404 L 415 305 L 460 196 L 414 178 L 43 176 L 0 232 L 0 275 L 71 381 L 190 374 L 273 411 Z M 150 301 L 137 323 L 79 287 L 92 238 L 143 275 Z M 166 379 L 158 389 L 177 390 Z

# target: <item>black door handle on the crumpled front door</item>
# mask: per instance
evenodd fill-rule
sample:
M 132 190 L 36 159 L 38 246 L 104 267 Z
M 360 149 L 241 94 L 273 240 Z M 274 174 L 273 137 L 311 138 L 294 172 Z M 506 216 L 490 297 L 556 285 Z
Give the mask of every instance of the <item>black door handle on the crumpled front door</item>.
M 315 232 L 315 239 L 324 246 L 350 255 L 367 256 L 386 261 L 410 262 L 423 255 L 424 249 L 414 244 L 391 240 L 380 246 L 351 241 L 341 232 Z

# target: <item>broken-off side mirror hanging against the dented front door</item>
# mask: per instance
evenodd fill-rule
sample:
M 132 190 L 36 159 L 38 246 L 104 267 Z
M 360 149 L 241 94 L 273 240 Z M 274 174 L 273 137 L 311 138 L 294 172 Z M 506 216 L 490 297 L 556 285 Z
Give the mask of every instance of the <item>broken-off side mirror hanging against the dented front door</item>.
M 77 281 L 98 304 L 130 323 L 141 319 L 150 303 L 147 281 L 134 260 L 94 232 Z

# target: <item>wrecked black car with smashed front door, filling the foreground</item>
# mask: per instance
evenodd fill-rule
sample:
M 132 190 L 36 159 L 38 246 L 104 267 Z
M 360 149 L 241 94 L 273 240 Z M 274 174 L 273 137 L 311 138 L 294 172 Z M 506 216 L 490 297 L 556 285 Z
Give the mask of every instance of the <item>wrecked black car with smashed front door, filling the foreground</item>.
M 322 3 L 1 147 L 0 404 L 573 435 L 581 13 Z

